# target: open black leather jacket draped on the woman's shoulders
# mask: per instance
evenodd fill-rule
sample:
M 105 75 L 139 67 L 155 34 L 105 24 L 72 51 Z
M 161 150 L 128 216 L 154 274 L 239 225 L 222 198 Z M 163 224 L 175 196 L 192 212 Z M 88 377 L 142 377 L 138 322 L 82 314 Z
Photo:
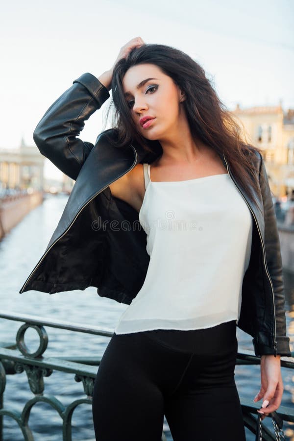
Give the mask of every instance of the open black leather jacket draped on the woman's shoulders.
M 98 294 L 130 304 L 146 277 L 149 255 L 138 212 L 112 196 L 109 185 L 153 158 L 140 147 L 113 147 L 105 133 L 95 145 L 78 138 L 87 120 L 109 98 L 91 73 L 73 81 L 49 107 L 33 137 L 40 152 L 76 182 L 49 244 L 20 293 L 49 294 L 98 288 Z M 149 156 L 147 156 L 149 155 Z M 253 337 L 256 355 L 291 356 L 286 336 L 282 261 L 276 217 L 261 155 L 254 167 L 260 189 L 252 201 L 221 158 L 253 217 L 249 267 L 242 285 L 238 327 Z M 131 225 L 131 227 L 130 227 Z M 134 225 L 136 227 L 134 228 Z

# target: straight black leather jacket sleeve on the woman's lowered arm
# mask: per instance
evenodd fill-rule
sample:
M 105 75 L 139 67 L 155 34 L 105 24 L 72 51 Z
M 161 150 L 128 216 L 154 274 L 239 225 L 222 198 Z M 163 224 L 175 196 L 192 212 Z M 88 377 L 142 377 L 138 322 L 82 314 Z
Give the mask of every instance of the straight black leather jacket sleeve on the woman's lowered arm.
M 268 175 L 262 155 L 259 170 L 259 183 L 264 205 L 266 261 L 274 292 L 277 342 L 276 353 L 277 355 L 291 356 L 289 345 L 290 339 L 286 336 L 285 295 L 280 239 Z M 269 354 L 268 347 L 259 347 L 258 352 L 261 354 Z

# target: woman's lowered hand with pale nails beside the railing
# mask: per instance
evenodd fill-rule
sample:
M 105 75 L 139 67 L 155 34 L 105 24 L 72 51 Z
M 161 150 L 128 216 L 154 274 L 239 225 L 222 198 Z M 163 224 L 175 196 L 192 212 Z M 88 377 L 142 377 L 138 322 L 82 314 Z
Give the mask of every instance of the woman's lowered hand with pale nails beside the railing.
M 254 402 L 263 398 L 260 409 L 264 415 L 261 419 L 278 409 L 282 401 L 284 385 L 281 373 L 281 356 L 262 355 L 260 359 L 261 388 L 254 398 Z M 263 407 L 264 406 L 264 407 Z

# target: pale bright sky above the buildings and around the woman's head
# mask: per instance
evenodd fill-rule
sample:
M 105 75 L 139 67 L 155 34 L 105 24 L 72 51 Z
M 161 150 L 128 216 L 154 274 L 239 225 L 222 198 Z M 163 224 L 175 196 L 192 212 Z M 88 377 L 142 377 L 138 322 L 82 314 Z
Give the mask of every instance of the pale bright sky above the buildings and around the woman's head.
M 0 14 L 0 148 L 33 145 L 49 106 L 81 74 L 99 76 L 134 37 L 181 49 L 228 109 L 294 108 L 293 0 L 11 1 Z M 110 127 L 109 98 L 80 134 Z M 61 177 L 46 159 L 46 177 Z

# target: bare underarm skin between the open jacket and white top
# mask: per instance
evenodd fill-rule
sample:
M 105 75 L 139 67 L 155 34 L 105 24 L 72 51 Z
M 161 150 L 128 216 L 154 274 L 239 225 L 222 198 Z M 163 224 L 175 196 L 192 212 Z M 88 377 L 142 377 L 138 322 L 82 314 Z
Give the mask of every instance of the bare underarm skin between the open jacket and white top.
M 109 188 L 112 196 L 124 200 L 139 212 L 145 192 L 143 164 L 135 165 Z

